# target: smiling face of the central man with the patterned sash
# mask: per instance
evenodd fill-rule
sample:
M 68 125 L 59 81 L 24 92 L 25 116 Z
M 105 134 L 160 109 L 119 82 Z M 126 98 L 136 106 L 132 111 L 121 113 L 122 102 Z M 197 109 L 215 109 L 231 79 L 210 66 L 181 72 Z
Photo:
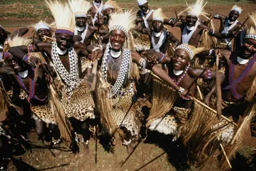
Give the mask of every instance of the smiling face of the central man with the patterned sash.
M 114 29 L 110 32 L 110 43 L 114 51 L 120 51 L 125 43 L 125 32 L 120 29 Z

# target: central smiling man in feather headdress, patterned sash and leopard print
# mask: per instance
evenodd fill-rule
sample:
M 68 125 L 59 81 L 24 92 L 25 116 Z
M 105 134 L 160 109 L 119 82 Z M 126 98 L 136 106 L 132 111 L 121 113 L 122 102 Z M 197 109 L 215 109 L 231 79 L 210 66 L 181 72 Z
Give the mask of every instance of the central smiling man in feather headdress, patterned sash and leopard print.
M 126 42 L 129 31 L 135 27 L 135 16 L 131 11 L 116 12 L 110 18 L 110 42 L 105 47 L 105 53 L 101 62 L 101 72 L 96 89 L 97 107 L 103 127 L 112 137 L 121 137 L 123 144 L 127 146 L 127 152 L 133 149 L 132 142 L 138 140 L 140 132 L 140 109 L 134 96 L 133 79 L 136 79 L 138 71 L 133 68 L 132 62 L 144 70 L 150 68 L 153 72 L 166 80 L 176 90 L 180 90 L 170 77 L 157 66 L 151 68 L 136 51 L 127 49 Z M 88 47 L 89 48 L 89 47 Z M 92 48 L 88 49 L 90 51 Z M 99 47 L 94 47 L 99 49 Z M 101 57 L 97 52 L 92 56 Z M 182 92 L 184 95 L 186 91 Z

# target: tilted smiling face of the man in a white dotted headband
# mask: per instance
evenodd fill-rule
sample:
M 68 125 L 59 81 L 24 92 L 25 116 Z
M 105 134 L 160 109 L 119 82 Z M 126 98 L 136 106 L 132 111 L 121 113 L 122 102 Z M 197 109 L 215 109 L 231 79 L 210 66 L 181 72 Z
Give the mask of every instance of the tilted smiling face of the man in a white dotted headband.
M 186 51 L 177 49 L 172 57 L 172 67 L 175 70 L 184 70 L 190 62 L 190 57 Z

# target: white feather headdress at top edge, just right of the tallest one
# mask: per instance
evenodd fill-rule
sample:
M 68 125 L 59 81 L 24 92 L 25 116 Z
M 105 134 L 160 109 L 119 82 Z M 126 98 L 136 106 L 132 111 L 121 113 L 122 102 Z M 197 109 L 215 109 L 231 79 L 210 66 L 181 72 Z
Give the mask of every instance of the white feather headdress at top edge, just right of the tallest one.
M 84 0 L 69 0 L 68 4 L 75 17 L 87 17 L 87 12 L 92 7 L 90 2 Z

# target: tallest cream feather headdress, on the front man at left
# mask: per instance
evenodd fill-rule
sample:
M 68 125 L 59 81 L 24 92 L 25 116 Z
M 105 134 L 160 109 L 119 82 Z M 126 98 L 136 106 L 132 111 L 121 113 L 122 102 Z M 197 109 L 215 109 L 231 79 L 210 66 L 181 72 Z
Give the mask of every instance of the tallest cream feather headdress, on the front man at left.
M 75 30 L 75 15 L 67 3 L 62 3 L 58 0 L 45 0 L 51 14 L 55 19 L 56 31 L 55 33 L 63 33 L 74 36 Z

